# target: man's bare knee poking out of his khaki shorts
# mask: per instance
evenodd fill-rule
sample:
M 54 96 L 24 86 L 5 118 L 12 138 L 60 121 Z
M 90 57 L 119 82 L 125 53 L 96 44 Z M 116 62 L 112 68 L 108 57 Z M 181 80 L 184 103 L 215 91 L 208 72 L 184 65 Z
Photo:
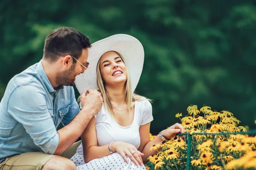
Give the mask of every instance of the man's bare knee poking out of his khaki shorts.
M 76 165 L 70 159 L 55 156 L 47 161 L 42 170 L 76 170 Z

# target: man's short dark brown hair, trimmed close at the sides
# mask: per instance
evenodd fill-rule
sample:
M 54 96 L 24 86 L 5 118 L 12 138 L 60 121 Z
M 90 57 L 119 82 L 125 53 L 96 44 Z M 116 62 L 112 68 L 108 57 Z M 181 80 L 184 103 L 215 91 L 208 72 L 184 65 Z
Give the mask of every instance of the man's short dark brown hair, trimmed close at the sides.
M 44 58 L 55 62 L 59 57 L 70 55 L 78 59 L 84 48 L 90 48 L 89 38 L 80 31 L 61 27 L 53 30 L 44 42 Z M 76 63 L 76 60 L 73 60 Z

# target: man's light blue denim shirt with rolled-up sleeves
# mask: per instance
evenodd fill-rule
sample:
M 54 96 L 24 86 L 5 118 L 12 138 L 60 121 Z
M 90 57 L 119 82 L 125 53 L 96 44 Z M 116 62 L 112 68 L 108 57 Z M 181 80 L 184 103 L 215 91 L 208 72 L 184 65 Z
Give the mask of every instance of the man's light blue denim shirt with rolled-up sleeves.
M 42 61 L 13 77 L 0 102 L 0 162 L 26 153 L 55 153 L 57 127 L 79 113 L 72 86 L 54 89 Z

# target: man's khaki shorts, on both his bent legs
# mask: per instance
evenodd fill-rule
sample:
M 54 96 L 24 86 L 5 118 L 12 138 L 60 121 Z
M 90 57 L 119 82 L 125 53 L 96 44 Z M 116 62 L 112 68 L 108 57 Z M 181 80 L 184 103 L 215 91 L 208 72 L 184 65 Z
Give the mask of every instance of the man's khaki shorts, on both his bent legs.
M 70 159 L 75 153 L 81 141 L 72 144 L 61 156 Z M 0 163 L 0 170 L 41 170 L 49 159 L 56 155 L 41 152 L 27 152 L 6 158 Z

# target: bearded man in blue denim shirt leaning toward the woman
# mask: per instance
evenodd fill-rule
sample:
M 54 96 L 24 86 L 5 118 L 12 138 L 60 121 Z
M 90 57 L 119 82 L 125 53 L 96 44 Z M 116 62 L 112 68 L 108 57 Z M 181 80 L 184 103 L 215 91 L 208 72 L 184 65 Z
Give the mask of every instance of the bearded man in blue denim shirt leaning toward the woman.
M 88 48 L 81 32 L 58 28 L 45 40 L 43 59 L 10 80 L 0 102 L 0 170 L 76 169 L 60 155 L 102 107 L 101 94 L 90 89 L 79 111 L 72 87 L 89 66 Z

